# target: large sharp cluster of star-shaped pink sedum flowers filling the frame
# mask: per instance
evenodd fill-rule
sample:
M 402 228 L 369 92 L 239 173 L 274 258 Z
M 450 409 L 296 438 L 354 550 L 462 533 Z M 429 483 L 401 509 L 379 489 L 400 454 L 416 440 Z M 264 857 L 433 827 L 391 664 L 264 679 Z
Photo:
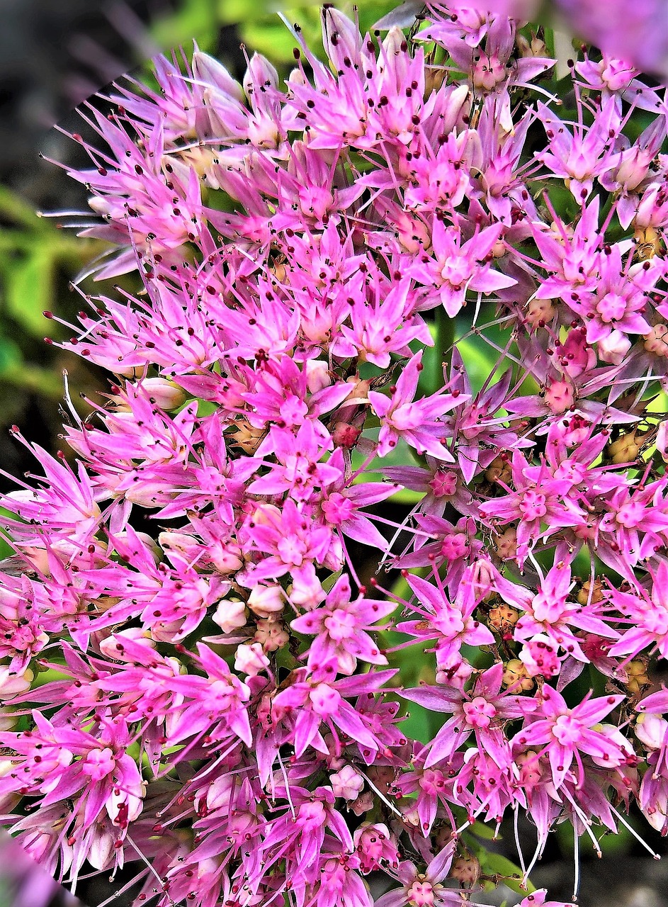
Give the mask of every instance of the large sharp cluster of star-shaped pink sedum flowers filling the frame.
M 505 15 L 322 22 L 286 91 L 196 49 L 74 136 L 142 289 L 2 499 L 0 803 L 138 904 L 444 907 L 477 821 L 528 814 L 525 886 L 557 821 L 668 832 L 665 102 L 587 51 L 569 110 Z

